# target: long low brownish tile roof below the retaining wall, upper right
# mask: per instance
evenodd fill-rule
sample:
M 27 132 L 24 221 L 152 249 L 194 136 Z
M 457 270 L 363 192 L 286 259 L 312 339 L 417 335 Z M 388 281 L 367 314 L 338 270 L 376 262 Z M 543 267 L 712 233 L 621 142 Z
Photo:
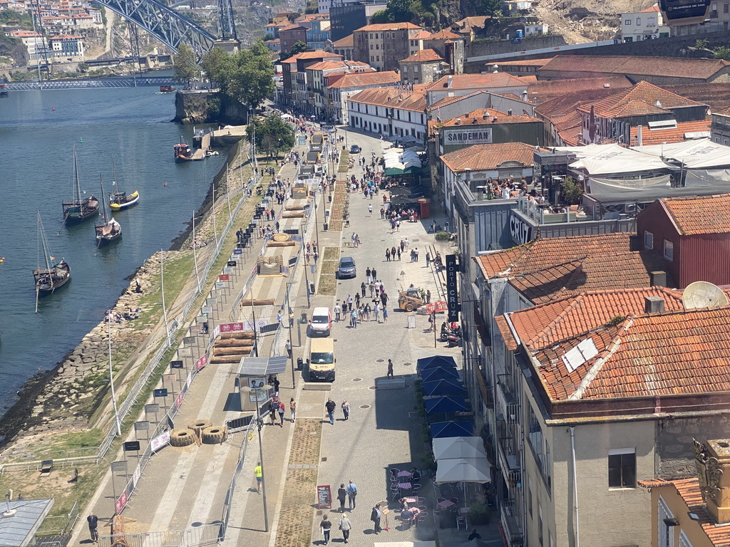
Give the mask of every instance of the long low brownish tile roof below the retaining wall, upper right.
M 557 55 L 542 66 L 541 71 L 592 72 L 595 74 L 634 74 L 679 78 L 713 77 L 729 66 L 719 59 L 679 57 L 632 57 L 629 55 Z

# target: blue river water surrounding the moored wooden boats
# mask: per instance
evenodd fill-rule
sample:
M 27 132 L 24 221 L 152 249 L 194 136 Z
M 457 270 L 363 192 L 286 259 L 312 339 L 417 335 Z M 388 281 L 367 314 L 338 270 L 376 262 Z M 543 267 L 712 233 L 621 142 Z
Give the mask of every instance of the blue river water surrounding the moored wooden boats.
M 192 144 L 193 128 L 173 117 L 174 95 L 149 87 L 0 98 L 0 411 L 26 380 L 77 346 L 128 285 L 125 278 L 168 249 L 202 203 L 225 155 L 174 163 L 173 144 L 180 133 Z M 122 190 L 141 196 L 115 213 L 122 239 L 96 256 L 93 220 L 61 228 L 61 201 L 72 198 L 74 144 L 82 191 L 99 197 L 99 174 L 107 195 L 112 191 L 113 156 Z M 37 209 L 53 255 L 66 258 L 72 279 L 42 298 L 36 314 Z

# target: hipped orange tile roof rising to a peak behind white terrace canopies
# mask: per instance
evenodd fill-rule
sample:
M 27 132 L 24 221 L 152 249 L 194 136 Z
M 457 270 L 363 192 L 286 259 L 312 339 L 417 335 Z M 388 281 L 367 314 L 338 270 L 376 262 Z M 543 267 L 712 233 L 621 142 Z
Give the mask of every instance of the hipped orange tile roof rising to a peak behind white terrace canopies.
M 656 105 L 657 101 L 661 106 Z M 595 108 L 596 115 L 613 118 L 661 114 L 672 108 L 701 104 L 648 82 L 639 82 L 633 88 L 618 91 L 595 104 L 579 106 L 578 110 L 588 114 L 591 106 Z

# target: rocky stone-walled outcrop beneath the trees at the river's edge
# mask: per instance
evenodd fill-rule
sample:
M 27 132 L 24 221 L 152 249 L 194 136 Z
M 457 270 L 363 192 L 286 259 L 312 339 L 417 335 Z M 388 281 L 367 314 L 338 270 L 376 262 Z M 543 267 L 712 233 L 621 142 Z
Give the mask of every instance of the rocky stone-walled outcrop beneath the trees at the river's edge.
M 185 124 L 247 123 L 246 107 L 217 91 L 207 93 L 175 93 L 175 117 L 172 121 Z

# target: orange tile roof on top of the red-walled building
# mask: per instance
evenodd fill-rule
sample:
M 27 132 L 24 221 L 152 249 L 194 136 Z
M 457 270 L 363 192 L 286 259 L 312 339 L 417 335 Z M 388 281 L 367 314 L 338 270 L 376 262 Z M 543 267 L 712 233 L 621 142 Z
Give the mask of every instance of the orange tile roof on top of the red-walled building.
M 730 194 L 659 200 L 682 236 L 730 233 Z

